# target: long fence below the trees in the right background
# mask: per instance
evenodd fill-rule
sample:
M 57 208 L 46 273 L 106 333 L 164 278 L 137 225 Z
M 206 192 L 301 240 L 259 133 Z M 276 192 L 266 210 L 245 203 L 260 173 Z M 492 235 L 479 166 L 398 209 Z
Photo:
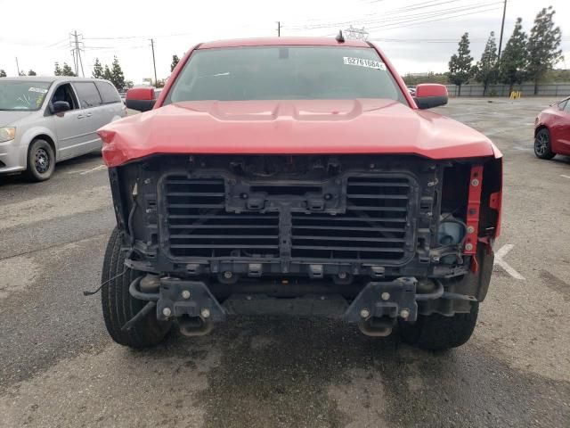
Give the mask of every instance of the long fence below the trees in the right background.
M 459 87 L 446 85 L 449 96 L 458 96 Z M 460 96 L 483 96 L 483 85 L 462 85 Z M 513 85 L 513 91 L 520 91 L 522 96 L 534 95 L 534 84 L 524 83 Z M 509 85 L 489 85 L 485 96 L 509 96 Z M 568 83 L 545 83 L 538 86 L 537 96 L 556 96 L 565 98 L 570 96 L 570 82 Z

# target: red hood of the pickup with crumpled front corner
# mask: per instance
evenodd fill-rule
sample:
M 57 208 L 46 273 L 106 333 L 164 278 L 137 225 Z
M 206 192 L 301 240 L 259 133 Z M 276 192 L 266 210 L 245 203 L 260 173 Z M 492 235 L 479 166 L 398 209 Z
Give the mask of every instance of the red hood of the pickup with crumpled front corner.
M 200 101 L 120 119 L 99 130 L 118 166 L 151 154 L 417 154 L 493 156 L 472 128 L 393 100 Z

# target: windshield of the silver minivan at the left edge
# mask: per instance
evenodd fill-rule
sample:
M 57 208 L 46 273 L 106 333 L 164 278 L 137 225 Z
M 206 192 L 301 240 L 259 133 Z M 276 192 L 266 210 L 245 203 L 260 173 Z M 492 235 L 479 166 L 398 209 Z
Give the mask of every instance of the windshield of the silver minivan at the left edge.
M 44 103 L 50 82 L 0 79 L 0 110 L 36 111 Z

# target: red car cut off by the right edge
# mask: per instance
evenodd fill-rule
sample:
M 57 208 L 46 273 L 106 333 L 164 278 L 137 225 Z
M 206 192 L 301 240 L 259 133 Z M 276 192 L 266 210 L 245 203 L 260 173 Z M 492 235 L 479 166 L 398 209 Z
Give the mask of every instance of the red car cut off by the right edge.
M 552 104 L 534 120 L 534 154 L 541 159 L 570 155 L 570 98 Z

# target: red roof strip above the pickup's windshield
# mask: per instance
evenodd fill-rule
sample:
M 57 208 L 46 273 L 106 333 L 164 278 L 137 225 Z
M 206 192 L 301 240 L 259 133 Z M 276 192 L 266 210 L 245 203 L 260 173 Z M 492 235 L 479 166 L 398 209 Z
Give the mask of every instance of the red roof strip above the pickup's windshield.
M 214 49 L 220 47 L 241 46 L 350 46 L 371 47 L 362 40 L 349 40 L 338 42 L 335 37 L 260 37 L 260 38 L 233 38 L 229 40 L 216 40 L 199 45 L 198 49 Z

